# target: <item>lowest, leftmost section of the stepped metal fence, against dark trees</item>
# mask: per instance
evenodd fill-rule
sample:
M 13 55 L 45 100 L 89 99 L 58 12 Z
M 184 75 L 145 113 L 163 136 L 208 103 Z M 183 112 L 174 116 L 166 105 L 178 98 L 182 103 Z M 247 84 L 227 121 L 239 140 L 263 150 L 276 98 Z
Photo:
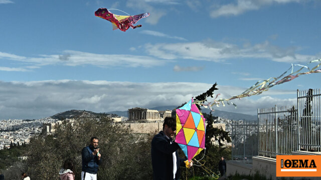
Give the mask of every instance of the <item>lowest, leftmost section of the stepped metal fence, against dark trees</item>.
M 258 155 L 258 124 L 250 121 L 232 122 L 232 159 L 252 163 Z

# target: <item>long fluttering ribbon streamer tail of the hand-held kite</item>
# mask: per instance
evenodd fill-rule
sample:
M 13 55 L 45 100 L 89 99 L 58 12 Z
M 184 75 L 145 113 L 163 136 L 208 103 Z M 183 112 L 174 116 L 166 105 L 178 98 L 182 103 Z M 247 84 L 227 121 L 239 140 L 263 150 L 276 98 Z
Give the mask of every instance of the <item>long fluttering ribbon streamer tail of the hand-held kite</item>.
M 296 77 L 298 77 L 300 75 L 321 72 L 321 69 L 316 69 L 321 65 L 321 63 L 317 64 L 316 66 L 314 66 L 311 69 L 307 66 L 309 63 L 320 62 L 320 61 L 321 61 L 321 58 L 311 60 L 306 65 L 301 65 L 301 64 L 294 64 L 293 65 L 293 64 L 291 64 L 290 68 L 288 68 L 285 72 L 283 72 L 278 77 L 270 77 L 266 80 L 259 80 L 254 85 L 252 85 L 250 88 L 246 89 L 244 92 L 242 92 L 239 95 L 235 95 L 230 98 L 221 98 L 221 99 L 217 100 L 217 97 L 220 95 L 220 94 L 217 94 L 213 102 L 209 102 L 208 104 L 205 104 L 204 102 L 207 101 L 205 99 L 203 101 L 195 100 L 195 103 L 202 105 L 205 108 L 210 108 L 211 110 L 213 110 L 212 106 L 214 106 L 214 105 L 219 106 L 219 104 L 221 104 L 221 103 L 223 106 L 225 106 L 224 101 L 226 101 L 227 104 L 233 104 L 236 108 L 237 107 L 236 104 L 233 102 L 229 102 L 229 100 L 261 94 L 262 92 L 267 91 L 269 88 L 273 87 L 274 85 L 288 82 L 290 80 L 295 79 Z M 294 66 L 300 66 L 300 68 L 293 72 Z M 304 68 L 308 69 L 308 71 L 300 72 Z M 289 70 L 291 70 L 291 73 L 285 75 Z

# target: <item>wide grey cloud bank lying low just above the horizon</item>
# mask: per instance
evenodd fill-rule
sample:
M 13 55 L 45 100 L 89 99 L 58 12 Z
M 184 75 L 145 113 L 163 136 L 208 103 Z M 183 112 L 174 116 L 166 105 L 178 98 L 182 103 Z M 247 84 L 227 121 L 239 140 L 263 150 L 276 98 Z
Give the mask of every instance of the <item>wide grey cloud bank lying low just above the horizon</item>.
M 94 112 L 127 110 L 132 107 L 151 108 L 180 105 L 192 96 L 208 90 L 212 84 L 196 82 L 133 83 L 89 80 L 0 81 L 0 119 L 41 118 L 70 109 Z M 229 98 L 245 90 L 234 86 L 218 86 L 219 98 Z M 238 105 L 215 107 L 220 110 L 255 114 L 256 108 L 288 104 L 294 99 L 279 99 L 272 95 L 296 91 L 269 90 L 258 99 L 234 99 Z M 270 96 L 266 96 L 270 95 Z

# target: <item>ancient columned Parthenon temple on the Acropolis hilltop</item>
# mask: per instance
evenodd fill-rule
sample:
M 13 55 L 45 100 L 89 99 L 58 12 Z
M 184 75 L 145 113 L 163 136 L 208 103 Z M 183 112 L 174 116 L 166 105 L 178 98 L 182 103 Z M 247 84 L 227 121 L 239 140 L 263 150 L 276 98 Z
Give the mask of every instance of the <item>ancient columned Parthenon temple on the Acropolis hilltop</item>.
M 128 109 L 128 120 L 130 121 L 157 121 L 171 116 L 172 110 L 158 111 L 141 107 Z

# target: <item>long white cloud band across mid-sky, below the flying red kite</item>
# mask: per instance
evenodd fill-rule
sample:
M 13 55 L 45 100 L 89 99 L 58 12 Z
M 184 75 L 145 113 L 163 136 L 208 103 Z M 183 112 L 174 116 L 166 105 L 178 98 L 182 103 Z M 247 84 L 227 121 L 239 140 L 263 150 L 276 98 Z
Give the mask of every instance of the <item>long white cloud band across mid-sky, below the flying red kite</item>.
M 162 32 L 143 30 L 142 33 L 162 37 L 169 36 Z M 182 38 L 184 39 L 184 38 Z M 154 67 L 161 66 L 177 59 L 208 60 L 229 63 L 231 59 L 267 59 L 277 62 L 307 63 L 317 59 L 315 55 L 300 54 L 299 47 L 278 47 L 269 41 L 254 45 L 237 45 L 216 42 L 211 39 L 199 42 L 181 43 L 146 43 L 143 46 L 131 47 L 130 51 L 143 48 L 147 55 L 131 54 L 98 54 L 76 50 L 64 50 L 60 54 L 40 54 L 26 57 L 7 52 L 0 52 L 0 60 L 14 60 L 15 66 L 2 66 L 5 71 L 30 71 L 44 65 L 94 65 L 98 67 Z M 244 75 L 244 74 L 243 74 Z

